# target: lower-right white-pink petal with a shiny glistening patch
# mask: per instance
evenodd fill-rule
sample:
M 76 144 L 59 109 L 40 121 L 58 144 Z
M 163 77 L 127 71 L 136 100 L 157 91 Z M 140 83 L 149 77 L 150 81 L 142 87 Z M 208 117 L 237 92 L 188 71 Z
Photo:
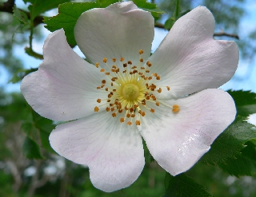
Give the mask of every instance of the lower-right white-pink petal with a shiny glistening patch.
M 187 171 L 232 123 L 234 100 L 221 89 L 206 89 L 178 100 L 164 100 L 180 111 L 156 108 L 142 118 L 142 137 L 151 155 L 171 175 Z M 163 104 L 160 105 L 163 107 Z

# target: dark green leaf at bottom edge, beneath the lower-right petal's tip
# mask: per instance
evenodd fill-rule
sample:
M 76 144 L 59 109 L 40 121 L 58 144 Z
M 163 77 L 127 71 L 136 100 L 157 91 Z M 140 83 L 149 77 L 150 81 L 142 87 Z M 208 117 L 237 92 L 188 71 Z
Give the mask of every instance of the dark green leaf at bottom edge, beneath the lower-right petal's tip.
M 172 176 L 166 173 L 166 193 L 162 197 L 209 197 L 206 187 L 194 179 L 181 174 Z

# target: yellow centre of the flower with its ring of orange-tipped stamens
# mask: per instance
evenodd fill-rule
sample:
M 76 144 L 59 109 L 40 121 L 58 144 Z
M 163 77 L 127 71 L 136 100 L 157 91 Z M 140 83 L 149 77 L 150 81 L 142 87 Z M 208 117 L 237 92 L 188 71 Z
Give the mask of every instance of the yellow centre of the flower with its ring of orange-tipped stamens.
M 162 93 L 162 89 L 170 91 L 170 86 L 158 87 L 156 85 L 155 82 L 160 81 L 161 76 L 150 71 L 153 65 L 150 61 L 144 61 L 143 53 L 142 49 L 138 51 L 136 65 L 124 57 L 113 57 L 110 60 L 104 57 L 102 59 L 104 68 L 100 67 L 99 62 L 95 64 L 106 76 L 96 89 L 104 91 L 106 97 L 96 100 L 98 105 L 94 107 L 94 112 L 105 108 L 112 117 L 118 117 L 120 123 L 138 126 L 148 112 L 154 113 L 162 104 L 171 108 L 173 113 L 180 111 L 178 104 L 170 106 L 157 100 L 156 94 Z M 101 104 L 102 101 L 105 102 Z

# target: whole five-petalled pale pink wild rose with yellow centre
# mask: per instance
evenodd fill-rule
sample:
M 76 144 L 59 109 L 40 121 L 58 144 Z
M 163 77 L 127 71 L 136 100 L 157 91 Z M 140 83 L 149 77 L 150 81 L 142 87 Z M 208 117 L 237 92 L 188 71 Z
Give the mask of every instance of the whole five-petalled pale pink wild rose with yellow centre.
M 88 10 L 74 36 L 63 30 L 44 44 L 44 61 L 22 81 L 41 116 L 57 121 L 50 144 L 90 168 L 102 191 L 130 186 L 144 167 L 142 137 L 171 175 L 192 167 L 234 120 L 234 100 L 217 89 L 238 65 L 233 41 L 213 39 L 214 17 L 198 6 L 175 22 L 150 56 L 154 18 L 133 2 Z

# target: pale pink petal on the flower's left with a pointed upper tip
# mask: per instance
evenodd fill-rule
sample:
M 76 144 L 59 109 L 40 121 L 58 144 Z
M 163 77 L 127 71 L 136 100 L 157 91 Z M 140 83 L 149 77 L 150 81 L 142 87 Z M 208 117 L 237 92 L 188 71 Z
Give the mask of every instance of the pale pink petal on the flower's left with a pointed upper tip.
M 74 120 L 94 113 L 104 76 L 70 48 L 63 30 L 51 33 L 43 48 L 38 71 L 22 80 L 26 101 L 51 120 Z M 103 78 L 102 78 L 103 79 Z

